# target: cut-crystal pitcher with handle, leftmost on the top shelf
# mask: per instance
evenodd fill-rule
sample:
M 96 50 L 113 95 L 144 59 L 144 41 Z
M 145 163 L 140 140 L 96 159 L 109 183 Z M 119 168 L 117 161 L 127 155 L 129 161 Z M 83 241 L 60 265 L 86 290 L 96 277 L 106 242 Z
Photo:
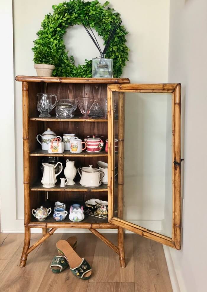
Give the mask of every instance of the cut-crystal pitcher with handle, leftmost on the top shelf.
M 52 97 L 54 96 L 55 102 L 52 103 Z M 40 112 L 39 117 L 50 117 L 49 112 L 56 106 L 57 97 L 55 94 L 50 93 L 38 93 L 37 109 Z

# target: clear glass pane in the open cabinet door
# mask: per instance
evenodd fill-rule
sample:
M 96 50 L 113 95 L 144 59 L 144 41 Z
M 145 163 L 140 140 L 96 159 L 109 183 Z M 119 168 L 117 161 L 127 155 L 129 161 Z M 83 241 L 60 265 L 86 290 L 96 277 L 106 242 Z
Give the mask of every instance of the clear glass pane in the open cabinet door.
M 125 93 L 124 102 L 113 92 L 113 100 L 113 216 L 172 237 L 172 94 Z

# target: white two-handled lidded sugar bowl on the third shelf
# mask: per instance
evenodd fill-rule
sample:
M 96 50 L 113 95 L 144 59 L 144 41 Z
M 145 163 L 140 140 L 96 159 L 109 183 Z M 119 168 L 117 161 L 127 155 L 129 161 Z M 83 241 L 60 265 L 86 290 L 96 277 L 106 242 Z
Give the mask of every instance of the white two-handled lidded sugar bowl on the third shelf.
M 100 171 L 98 168 L 93 168 L 92 166 L 93 165 L 89 165 L 89 167 L 79 167 L 77 169 L 80 174 L 80 184 L 83 187 L 99 187 L 101 185 L 101 179 L 104 177 L 104 172 Z

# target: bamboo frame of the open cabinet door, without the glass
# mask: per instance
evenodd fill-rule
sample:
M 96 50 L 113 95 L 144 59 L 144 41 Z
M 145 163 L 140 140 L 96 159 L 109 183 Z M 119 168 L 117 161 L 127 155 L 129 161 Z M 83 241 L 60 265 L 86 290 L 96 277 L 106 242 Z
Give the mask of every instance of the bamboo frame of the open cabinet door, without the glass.
M 113 109 L 113 92 L 119 93 L 119 100 L 123 99 L 124 92 L 141 92 L 141 93 L 172 93 L 172 238 L 153 232 L 146 228 L 113 217 L 114 208 L 114 109 Z M 137 233 L 148 239 L 173 247 L 177 250 L 181 248 L 181 157 L 180 157 L 180 122 L 181 122 L 181 84 L 180 83 L 161 83 L 161 84 L 111 84 L 107 88 L 108 98 L 108 204 L 109 214 L 108 221 L 114 225 Z M 122 102 L 121 102 L 122 103 Z M 124 104 L 121 104 L 124 108 Z M 119 111 L 120 114 L 121 111 Z M 124 110 L 122 111 L 124 114 Z M 119 115 L 120 119 L 120 115 Z M 121 119 L 124 121 L 124 119 Z M 119 122 L 122 124 L 122 122 Z M 122 129 L 124 132 L 124 129 Z M 123 161 L 123 143 L 124 135 L 119 133 L 119 161 Z M 121 154 L 120 154 L 121 153 Z M 121 171 L 123 177 L 123 170 Z M 118 189 L 120 182 L 118 181 Z M 120 184 L 124 189 L 124 181 Z M 123 194 L 118 196 L 123 198 Z M 119 198 L 118 198 L 119 201 Z M 123 202 L 122 202 L 123 209 Z M 119 213 L 120 214 L 120 213 Z

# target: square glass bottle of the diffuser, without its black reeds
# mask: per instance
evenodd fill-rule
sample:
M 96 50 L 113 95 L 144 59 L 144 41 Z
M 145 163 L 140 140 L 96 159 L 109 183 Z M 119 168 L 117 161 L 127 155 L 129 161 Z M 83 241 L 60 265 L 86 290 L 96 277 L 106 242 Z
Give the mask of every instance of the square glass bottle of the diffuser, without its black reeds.
M 113 78 L 113 59 L 106 59 L 105 54 L 92 59 L 93 78 Z

